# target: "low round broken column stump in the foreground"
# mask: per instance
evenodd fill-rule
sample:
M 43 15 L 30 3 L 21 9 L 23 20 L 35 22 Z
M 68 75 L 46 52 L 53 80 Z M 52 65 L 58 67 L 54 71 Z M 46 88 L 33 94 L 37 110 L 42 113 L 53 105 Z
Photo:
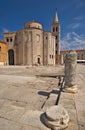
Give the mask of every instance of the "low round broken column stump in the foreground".
M 68 127 L 68 112 L 62 106 L 52 106 L 46 110 L 44 122 L 52 130 L 63 130 Z

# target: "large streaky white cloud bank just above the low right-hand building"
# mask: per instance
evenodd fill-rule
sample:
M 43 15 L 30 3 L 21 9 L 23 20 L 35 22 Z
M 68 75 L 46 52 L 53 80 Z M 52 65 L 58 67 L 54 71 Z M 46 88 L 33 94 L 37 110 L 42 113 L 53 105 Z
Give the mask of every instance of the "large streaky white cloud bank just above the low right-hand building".
M 61 39 L 61 50 L 85 49 L 85 35 L 78 35 L 75 32 L 67 33 Z

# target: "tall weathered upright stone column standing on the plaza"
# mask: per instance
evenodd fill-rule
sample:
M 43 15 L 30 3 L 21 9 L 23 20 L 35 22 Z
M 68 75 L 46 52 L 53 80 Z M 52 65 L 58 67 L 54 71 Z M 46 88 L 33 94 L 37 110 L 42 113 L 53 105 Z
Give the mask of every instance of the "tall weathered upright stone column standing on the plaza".
M 76 85 L 76 66 L 77 66 L 77 53 L 71 51 L 67 53 L 65 60 L 65 85 L 63 91 L 76 93 L 78 92 Z

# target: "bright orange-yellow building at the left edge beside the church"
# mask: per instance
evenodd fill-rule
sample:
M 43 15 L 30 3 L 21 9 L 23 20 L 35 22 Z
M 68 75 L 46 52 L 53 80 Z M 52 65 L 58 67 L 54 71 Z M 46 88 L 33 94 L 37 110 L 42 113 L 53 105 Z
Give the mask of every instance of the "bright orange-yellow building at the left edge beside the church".
M 7 62 L 6 43 L 0 41 L 0 65 L 6 65 L 6 62 Z

